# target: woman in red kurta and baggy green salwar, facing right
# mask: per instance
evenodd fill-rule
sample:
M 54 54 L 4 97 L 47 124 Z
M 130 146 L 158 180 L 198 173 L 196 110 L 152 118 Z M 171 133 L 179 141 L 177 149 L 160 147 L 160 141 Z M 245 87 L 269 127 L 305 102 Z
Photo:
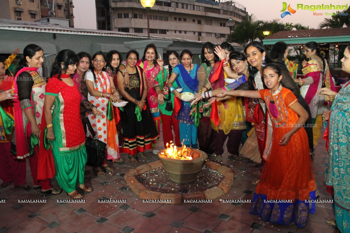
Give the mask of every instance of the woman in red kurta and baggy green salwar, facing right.
M 77 188 L 92 192 L 84 184 L 87 161 L 85 132 L 79 120 L 81 97 L 73 81 L 78 61 L 77 54 L 65 49 L 57 54 L 52 64 L 50 78 L 45 87 L 40 143 L 41 156 L 52 150 L 57 183 L 72 199 L 83 198 Z

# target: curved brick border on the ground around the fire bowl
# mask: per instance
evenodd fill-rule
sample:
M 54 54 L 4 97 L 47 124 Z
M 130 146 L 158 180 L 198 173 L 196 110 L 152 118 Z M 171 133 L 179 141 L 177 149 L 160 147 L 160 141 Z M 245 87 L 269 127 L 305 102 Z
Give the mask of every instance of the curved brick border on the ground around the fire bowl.
M 164 204 L 181 204 L 182 200 L 204 200 L 204 199 L 215 199 L 223 194 L 228 193 L 233 183 L 233 176 L 235 175 L 232 170 L 224 165 L 216 162 L 208 161 L 205 166 L 220 172 L 224 179 L 218 186 L 207 189 L 203 192 L 189 192 L 186 194 L 173 194 L 173 193 L 161 193 L 147 190 L 136 178 L 150 170 L 158 169 L 163 167 L 163 162 L 159 159 L 154 162 L 150 162 L 139 167 L 130 169 L 124 176 L 124 180 L 129 185 L 131 190 L 139 196 L 141 199 L 152 199 L 152 200 L 171 200 L 169 202 L 161 202 Z

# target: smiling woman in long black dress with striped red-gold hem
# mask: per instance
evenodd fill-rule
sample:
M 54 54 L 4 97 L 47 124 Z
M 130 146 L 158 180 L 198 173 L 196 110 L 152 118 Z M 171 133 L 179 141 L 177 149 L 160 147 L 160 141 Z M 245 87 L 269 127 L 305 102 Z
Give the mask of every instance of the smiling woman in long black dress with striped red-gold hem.
M 152 149 L 152 141 L 159 137 L 151 111 L 147 105 L 147 79 L 145 72 L 136 65 L 139 53 L 131 50 L 126 55 L 126 71 L 130 77 L 128 87 L 123 85 L 123 74 L 117 73 L 118 88 L 123 100 L 128 104 L 120 112 L 123 125 L 124 145 L 121 153 L 128 153 L 132 163 L 138 163 L 135 154 L 146 158 L 145 150 Z

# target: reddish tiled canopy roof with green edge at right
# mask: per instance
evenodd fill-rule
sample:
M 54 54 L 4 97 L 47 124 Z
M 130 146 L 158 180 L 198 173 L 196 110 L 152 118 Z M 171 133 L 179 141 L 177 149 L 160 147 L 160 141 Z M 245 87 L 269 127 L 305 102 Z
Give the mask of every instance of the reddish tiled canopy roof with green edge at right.
M 350 28 L 326 28 L 279 31 L 262 40 L 264 45 L 283 41 L 287 45 L 302 45 L 310 41 L 317 43 L 347 44 L 350 41 Z

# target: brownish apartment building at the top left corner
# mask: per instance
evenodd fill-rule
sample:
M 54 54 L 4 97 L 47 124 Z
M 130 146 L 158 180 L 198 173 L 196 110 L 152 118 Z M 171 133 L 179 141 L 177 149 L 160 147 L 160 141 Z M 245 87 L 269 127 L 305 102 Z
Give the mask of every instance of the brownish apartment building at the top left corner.
M 1 0 L 0 17 L 22 21 L 55 17 L 68 19 L 74 27 L 73 2 L 69 0 Z

